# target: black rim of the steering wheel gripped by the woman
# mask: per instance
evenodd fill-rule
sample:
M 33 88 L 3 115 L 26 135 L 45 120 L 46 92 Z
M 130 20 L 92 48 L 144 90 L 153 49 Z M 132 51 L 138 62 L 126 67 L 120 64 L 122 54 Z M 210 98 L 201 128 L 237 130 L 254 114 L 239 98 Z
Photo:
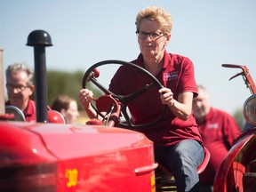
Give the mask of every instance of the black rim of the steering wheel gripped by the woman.
M 93 76 L 93 69 L 94 68 L 98 68 L 100 66 L 103 66 L 103 65 L 108 65 L 108 64 L 118 64 L 118 65 L 126 65 L 126 66 L 130 66 L 132 68 L 136 68 L 138 70 L 140 70 L 140 72 L 142 72 L 144 75 L 148 76 L 152 82 L 159 88 L 163 88 L 163 85 L 156 79 L 155 76 L 153 76 L 151 73 L 148 72 L 148 70 L 146 70 L 145 68 L 141 68 L 140 66 L 138 65 L 135 65 L 131 62 L 126 62 L 126 61 L 123 61 L 123 60 L 103 60 L 103 61 L 100 61 L 94 65 L 92 65 L 90 68 L 88 68 L 86 70 L 86 72 L 84 73 L 84 77 L 83 77 L 83 82 L 82 82 L 82 87 L 85 89 L 86 88 L 86 83 L 89 82 L 89 81 L 92 81 L 93 84 L 95 84 L 98 88 L 100 88 L 100 90 L 102 92 L 104 92 L 105 94 L 110 94 L 113 96 L 113 98 L 115 98 L 116 100 L 118 100 L 119 102 L 121 101 L 122 103 L 122 100 L 126 99 L 125 97 L 127 96 L 120 96 L 120 95 L 116 95 L 115 93 L 113 92 L 109 92 L 108 89 L 106 89 L 104 86 L 102 86 L 101 84 L 97 83 L 96 79 L 94 78 Z M 150 89 L 150 88 L 149 88 Z M 127 105 L 122 105 L 124 106 L 124 108 L 122 108 L 122 114 L 124 115 L 124 118 L 126 120 L 126 123 L 122 123 L 120 122 L 118 125 L 120 127 L 123 127 L 123 128 L 126 128 L 126 129 L 132 129 L 132 130 L 141 130 L 141 129 L 148 129 L 148 127 L 151 127 L 151 126 L 154 126 L 156 125 L 157 123 L 160 122 L 160 120 L 162 120 L 162 118 L 164 117 L 164 114 L 166 112 L 166 109 L 167 109 L 167 106 L 164 105 L 164 108 L 161 112 L 161 114 L 156 118 L 156 120 L 154 121 L 151 121 L 147 124 L 132 124 L 131 122 L 131 119 L 127 119 L 128 118 L 128 115 L 127 115 L 127 112 L 126 112 L 126 108 L 127 108 Z M 97 114 L 100 115 L 99 111 L 97 110 L 97 108 L 95 108 L 92 104 L 92 107 L 96 110 Z

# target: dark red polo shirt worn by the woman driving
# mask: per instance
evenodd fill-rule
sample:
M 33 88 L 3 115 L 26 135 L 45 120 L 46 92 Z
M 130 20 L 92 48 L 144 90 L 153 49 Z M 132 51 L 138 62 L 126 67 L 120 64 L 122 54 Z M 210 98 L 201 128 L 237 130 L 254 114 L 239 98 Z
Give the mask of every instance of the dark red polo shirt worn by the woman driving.
M 145 68 L 141 54 L 132 63 Z M 172 90 L 175 100 L 178 100 L 180 92 L 194 92 L 194 96 L 197 95 L 194 66 L 187 57 L 165 51 L 164 65 L 156 78 L 161 84 Z M 121 66 L 111 80 L 109 91 L 120 95 L 128 95 L 150 82 L 152 81 L 149 78 L 141 75 L 136 69 Z M 160 100 L 158 90 L 159 87 L 154 87 L 130 103 L 129 109 L 135 124 L 154 120 L 161 114 L 164 105 Z M 187 121 L 182 121 L 174 116 L 169 108 L 161 123 L 138 131 L 145 133 L 149 140 L 154 141 L 156 146 L 171 146 L 177 144 L 180 140 L 187 139 L 202 142 L 194 116 L 191 115 Z

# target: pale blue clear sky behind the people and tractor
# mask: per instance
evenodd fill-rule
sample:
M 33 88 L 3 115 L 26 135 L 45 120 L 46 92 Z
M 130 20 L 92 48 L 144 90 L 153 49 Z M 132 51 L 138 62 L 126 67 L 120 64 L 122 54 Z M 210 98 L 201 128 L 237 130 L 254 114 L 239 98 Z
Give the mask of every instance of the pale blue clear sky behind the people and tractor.
M 134 60 L 140 53 L 135 18 L 150 5 L 172 14 L 166 50 L 193 61 L 196 83 L 208 88 L 212 106 L 230 114 L 242 109 L 251 93 L 241 76 L 228 81 L 241 70 L 221 64 L 246 65 L 256 81 L 254 0 L 0 0 L 4 70 L 15 62 L 34 68 L 33 47 L 26 44 L 37 29 L 52 38 L 45 49 L 48 70 L 85 72 L 102 60 Z

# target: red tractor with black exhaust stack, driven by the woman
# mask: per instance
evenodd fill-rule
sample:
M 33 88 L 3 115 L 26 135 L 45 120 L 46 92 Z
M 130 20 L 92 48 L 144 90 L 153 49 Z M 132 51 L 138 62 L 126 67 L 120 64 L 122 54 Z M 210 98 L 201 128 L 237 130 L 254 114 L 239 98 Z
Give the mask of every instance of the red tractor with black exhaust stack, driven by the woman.
M 18 108 L 0 105 L 0 192 L 175 190 L 172 173 L 164 172 L 166 170 L 160 169 L 163 168 L 161 164 L 154 161 L 152 141 L 132 131 L 157 124 L 164 116 L 166 108 L 153 122 L 132 124 L 130 120 L 129 102 L 152 86 L 162 86 L 154 76 L 120 60 L 96 63 L 85 72 L 82 86 L 91 82 L 103 92 L 93 105 L 103 120 L 92 119 L 85 125 L 64 124 L 59 113 L 47 108 L 44 49 L 52 45 L 51 36 L 43 30 L 33 31 L 27 45 L 33 46 L 35 52 L 36 123 L 22 122 L 22 112 Z M 108 92 L 97 81 L 100 76 L 97 68 L 109 63 L 140 70 L 152 83 L 128 96 Z M 245 72 L 242 75 L 255 94 L 251 76 Z M 254 125 L 255 108 L 256 100 L 252 96 L 244 104 L 244 115 Z M 255 188 L 254 132 L 254 129 L 249 130 L 237 138 L 220 165 L 214 191 L 252 191 Z M 204 171 L 209 158 L 205 149 L 204 162 L 197 169 L 199 173 Z

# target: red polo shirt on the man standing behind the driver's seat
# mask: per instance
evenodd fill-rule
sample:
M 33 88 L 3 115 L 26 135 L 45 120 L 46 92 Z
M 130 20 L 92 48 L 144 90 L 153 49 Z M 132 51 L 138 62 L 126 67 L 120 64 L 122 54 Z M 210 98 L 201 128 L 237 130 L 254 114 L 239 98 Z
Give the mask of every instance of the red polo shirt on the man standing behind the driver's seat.
M 200 175 L 202 183 L 213 183 L 220 163 L 231 148 L 233 140 L 240 134 L 236 120 L 228 113 L 211 108 L 204 122 L 198 124 L 204 146 L 211 153 L 210 162 Z

